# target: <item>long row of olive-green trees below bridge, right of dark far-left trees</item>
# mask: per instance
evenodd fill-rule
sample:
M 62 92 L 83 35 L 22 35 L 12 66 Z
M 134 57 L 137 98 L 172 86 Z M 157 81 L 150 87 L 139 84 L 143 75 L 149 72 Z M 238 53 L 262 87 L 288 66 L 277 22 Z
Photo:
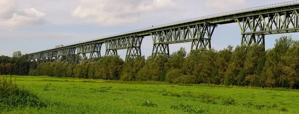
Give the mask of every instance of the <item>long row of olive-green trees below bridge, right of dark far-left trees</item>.
M 295 89 L 299 88 L 299 41 L 282 36 L 274 48 L 266 51 L 257 44 L 235 48 L 229 45 L 219 51 L 192 50 L 188 54 L 180 48 L 170 57 L 138 57 L 125 62 L 119 56 L 104 56 L 97 62 L 85 59 L 80 64 L 30 62 L 28 68 L 33 76 Z

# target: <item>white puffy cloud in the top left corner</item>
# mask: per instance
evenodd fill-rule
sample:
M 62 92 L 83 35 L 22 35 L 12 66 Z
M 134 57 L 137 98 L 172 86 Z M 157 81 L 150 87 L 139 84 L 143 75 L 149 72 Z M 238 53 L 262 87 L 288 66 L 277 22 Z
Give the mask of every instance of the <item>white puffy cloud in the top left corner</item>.
M 35 8 L 16 10 L 16 0 L 0 0 L 0 28 L 14 29 L 45 24 L 46 14 Z M 2 7 L 3 6 L 3 7 Z

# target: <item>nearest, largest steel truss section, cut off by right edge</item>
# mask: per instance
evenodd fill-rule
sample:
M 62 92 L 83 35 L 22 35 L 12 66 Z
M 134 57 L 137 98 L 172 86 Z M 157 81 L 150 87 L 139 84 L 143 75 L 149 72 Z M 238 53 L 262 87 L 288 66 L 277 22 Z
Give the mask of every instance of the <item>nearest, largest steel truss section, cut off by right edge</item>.
M 241 45 L 265 45 L 265 35 L 299 32 L 298 10 L 265 13 L 237 18 L 241 28 Z

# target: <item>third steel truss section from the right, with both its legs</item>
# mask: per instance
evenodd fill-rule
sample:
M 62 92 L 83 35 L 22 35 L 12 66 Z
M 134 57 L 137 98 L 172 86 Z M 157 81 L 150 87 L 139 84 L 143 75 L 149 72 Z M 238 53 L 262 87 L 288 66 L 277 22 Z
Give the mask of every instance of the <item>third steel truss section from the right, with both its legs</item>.
M 106 55 L 117 56 L 117 50 L 127 49 L 126 61 L 141 56 L 141 44 L 144 36 L 128 36 L 105 41 Z

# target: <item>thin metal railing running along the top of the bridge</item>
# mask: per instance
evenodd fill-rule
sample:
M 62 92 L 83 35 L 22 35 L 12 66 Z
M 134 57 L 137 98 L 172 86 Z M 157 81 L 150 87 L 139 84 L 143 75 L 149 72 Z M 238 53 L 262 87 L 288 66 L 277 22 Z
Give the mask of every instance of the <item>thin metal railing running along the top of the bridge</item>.
M 70 45 L 75 45 L 75 44 L 79 44 L 79 43 L 85 43 L 85 42 L 90 42 L 90 41 L 105 39 L 105 38 L 119 36 L 119 35 L 124 35 L 124 34 L 130 34 L 130 33 L 134 33 L 134 32 L 140 32 L 140 31 L 150 30 L 150 29 L 155 29 L 155 28 L 160 28 L 160 27 L 164 27 L 164 26 L 170 26 L 170 25 L 175 25 L 175 24 L 180 24 L 180 23 L 185 23 L 185 22 L 202 20 L 202 19 L 206 19 L 206 18 L 212 18 L 212 17 L 218 17 L 218 16 L 225 16 L 225 15 L 230 15 L 230 14 L 235 14 L 235 13 L 247 12 L 247 11 L 258 10 L 258 9 L 265 9 L 265 8 L 273 8 L 273 7 L 277 7 L 277 6 L 291 5 L 291 4 L 298 4 L 298 3 L 299 3 L 299 0 L 295 0 L 295 1 L 287 1 L 287 2 L 282 2 L 282 3 L 275 3 L 275 4 L 270 4 L 270 5 L 263 5 L 263 6 L 245 8 L 245 9 L 228 11 L 228 12 L 223 12 L 223 13 L 217 13 L 217 14 L 212 14 L 212 15 L 207 15 L 207 16 L 202 16 L 202 17 L 197 17 L 197 18 L 191 18 L 191 19 L 181 20 L 181 21 L 177 21 L 177 22 L 171 22 L 171 23 L 161 24 L 161 25 L 157 25 L 157 26 L 154 26 L 154 27 L 147 27 L 147 28 L 137 29 L 137 30 L 123 32 L 123 33 L 119 33 L 119 34 L 113 34 L 113 35 L 109 35 L 109 36 L 104 36 L 104 37 L 100 37 L 100 38 L 86 40 L 86 41 L 83 41 L 83 42 L 72 43 L 72 44 L 68 44 L 68 45 L 65 45 L 65 46 L 70 46 Z M 34 53 L 36 53 L 36 52 L 34 52 Z

